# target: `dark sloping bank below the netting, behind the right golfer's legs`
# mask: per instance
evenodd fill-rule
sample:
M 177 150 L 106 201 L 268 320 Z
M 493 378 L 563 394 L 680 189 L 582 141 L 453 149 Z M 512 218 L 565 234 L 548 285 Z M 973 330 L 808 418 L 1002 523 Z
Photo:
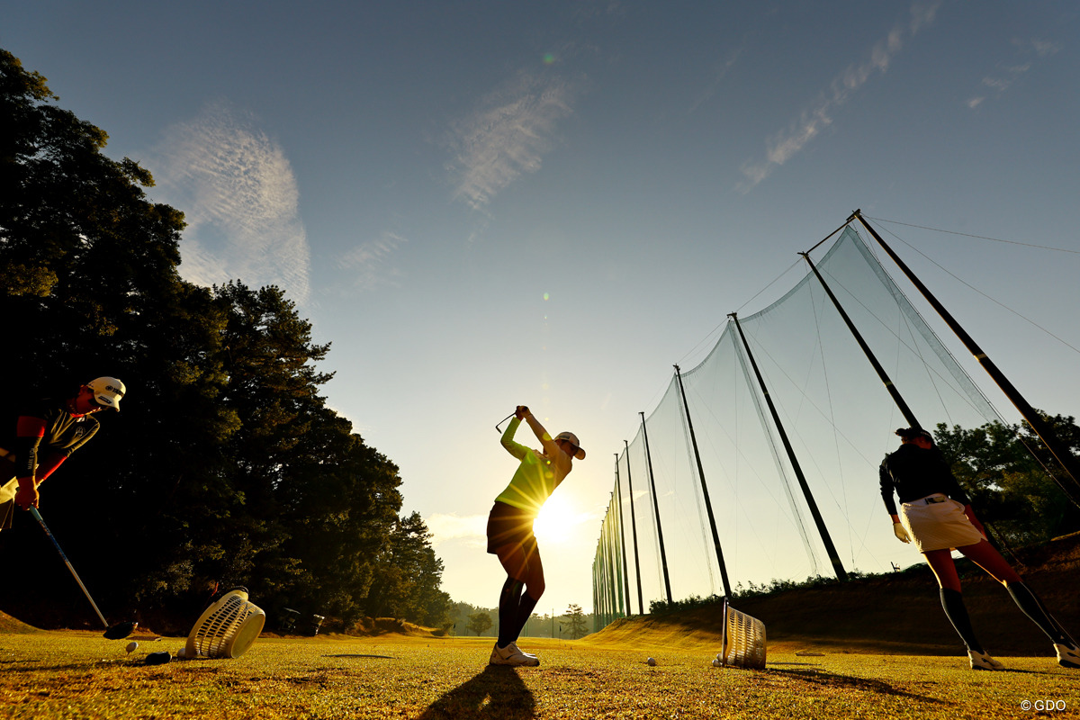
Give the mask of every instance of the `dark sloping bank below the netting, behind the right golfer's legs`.
M 1080 533 L 1016 552 L 1014 567 L 1057 621 L 1080 633 Z M 1012 558 L 1010 558 L 1012 560 Z M 980 640 L 995 655 L 1052 655 L 1047 637 L 1004 587 L 970 561 L 957 562 L 964 602 Z M 929 567 L 875 575 L 843 585 L 795 589 L 737 600 L 761 620 L 770 649 L 780 651 L 942 655 L 962 644 L 942 611 Z M 586 642 L 716 647 L 720 606 L 612 623 Z

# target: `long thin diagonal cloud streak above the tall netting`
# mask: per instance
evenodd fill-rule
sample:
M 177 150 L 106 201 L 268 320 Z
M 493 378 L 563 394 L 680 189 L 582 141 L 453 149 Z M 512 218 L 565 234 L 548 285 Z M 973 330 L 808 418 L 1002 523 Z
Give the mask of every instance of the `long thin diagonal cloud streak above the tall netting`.
M 766 141 L 765 159 L 743 163 L 743 180 L 739 182 L 739 189 L 743 192 L 752 190 L 831 125 L 833 111 L 846 104 L 875 74 L 886 72 L 905 40 L 933 23 L 940 4 L 917 2 L 912 5 L 907 23 L 900 23 L 889 30 L 883 39 L 875 43 L 867 59 L 840 72 L 812 107 L 804 109 L 786 130 Z

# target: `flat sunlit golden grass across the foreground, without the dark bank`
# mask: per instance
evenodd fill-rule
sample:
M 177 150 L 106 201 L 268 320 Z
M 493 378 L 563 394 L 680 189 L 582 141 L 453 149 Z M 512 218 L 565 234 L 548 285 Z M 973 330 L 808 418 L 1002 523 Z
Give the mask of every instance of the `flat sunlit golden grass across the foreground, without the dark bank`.
M 489 638 L 262 638 L 237 660 L 147 666 L 183 640 L 0 635 L 0 718 L 1030 718 L 1077 714 L 1080 670 L 1050 657 L 974 673 L 963 656 L 770 650 L 717 669 L 697 648 L 527 638 L 538 668 L 489 667 Z M 649 667 L 648 655 L 657 658 Z

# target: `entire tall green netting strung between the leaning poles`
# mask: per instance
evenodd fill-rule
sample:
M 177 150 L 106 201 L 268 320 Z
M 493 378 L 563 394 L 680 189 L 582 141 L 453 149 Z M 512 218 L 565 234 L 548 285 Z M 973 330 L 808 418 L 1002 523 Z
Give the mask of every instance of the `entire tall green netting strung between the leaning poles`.
M 998 419 L 858 232 L 846 229 L 815 264 L 922 426 L 974 427 Z M 877 484 L 881 459 L 899 446 L 893 431 L 907 422 L 821 282 L 808 268 L 780 300 L 739 322 L 845 568 L 881 572 L 893 562 L 919 561 L 910 546 L 893 538 Z M 733 324 L 708 356 L 681 376 L 731 584 L 738 590 L 773 579 L 831 575 L 821 534 Z M 674 378 L 646 426 L 673 596 L 721 594 Z M 665 593 L 642 432 L 618 465 L 629 468 L 634 481 L 648 606 Z M 627 548 L 627 555 L 624 561 L 633 568 L 634 551 Z M 636 603 L 633 570 L 631 585 Z

